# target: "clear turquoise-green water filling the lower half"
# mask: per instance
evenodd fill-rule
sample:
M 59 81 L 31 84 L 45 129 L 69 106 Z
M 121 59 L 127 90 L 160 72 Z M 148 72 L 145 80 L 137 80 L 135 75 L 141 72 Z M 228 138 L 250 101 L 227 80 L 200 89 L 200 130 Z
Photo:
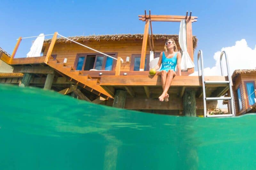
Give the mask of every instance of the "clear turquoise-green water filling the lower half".
M 197 118 L 0 85 L 0 169 L 255 169 L 256 116 Z

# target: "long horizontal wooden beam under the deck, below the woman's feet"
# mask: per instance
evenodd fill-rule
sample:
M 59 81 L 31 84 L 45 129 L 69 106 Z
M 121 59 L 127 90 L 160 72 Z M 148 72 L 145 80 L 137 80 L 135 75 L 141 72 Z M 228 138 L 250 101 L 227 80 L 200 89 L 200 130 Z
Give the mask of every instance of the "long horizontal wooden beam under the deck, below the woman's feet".
M 216 108 L 218 101 L 206 101 L 207 108 Z M 145 109 L 145 110 L 183 110 L 182 98 L 169 98 L 168 102 L 161 102 L 158 99 L 147 98 L 127 98 L 125 109 Z M 202 98 L 196 98 L 196 109 L 204 109 Z

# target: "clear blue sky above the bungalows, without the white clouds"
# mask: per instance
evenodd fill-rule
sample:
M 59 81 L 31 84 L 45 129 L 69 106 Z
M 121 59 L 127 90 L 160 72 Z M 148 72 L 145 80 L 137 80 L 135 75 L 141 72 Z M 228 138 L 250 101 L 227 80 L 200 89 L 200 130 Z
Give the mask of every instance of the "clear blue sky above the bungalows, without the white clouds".
M 192 11 L 198 17 L 192 24 L 193 35 L 198 38 L 195 56 L 199 49 L 203 50 L 205 67 L 213 67 L 214 53 L 234 46 L 236 41 L 245 39 L 252 49 L 256 45 L 256 1 L 0 0 L 0 3 L 0 47 L 8 53 L 12 53 L 18 37 L 40 33 L 58 31 L 64 36 L 143 33 L 145 23 L 138 15 L 144 14 L 144 10 L 151 10 L 154 15 L 185 15 L 186 11 Z M 153 33 L 178 34 L 179 25 L 154 22 Z M 30 47 L 27 48 L 29 51 Z

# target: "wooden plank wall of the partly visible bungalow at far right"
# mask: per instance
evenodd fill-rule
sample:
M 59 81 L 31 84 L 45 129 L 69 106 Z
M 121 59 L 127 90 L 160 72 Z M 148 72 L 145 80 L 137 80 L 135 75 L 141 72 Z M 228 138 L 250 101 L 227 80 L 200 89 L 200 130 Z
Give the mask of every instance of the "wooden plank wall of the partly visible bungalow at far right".
M 256 73 L 244 73 L 239 74 L 236 76 L 235 80 L 233 80 L 233 94 L 234 94 L 234 107 L 236 115 L 241 115 L 246 113 L 246 109 L 248 109 L 248 100 L 246 96 L 246 87 L 245 87 L 245 81 L 253 81 L 256 85 Z M 239 111 L 238 109 L 238 98 L 236 94 L 236 89 L 240 87 L 241 90 L 241 97 L 242 97 L 242 105 L 243 109 Z

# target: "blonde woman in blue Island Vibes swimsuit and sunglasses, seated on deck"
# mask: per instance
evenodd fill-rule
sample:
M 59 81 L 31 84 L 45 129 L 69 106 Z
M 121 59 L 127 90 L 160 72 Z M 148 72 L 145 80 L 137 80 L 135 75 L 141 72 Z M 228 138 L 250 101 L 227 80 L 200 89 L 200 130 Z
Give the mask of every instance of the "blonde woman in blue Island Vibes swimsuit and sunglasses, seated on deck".
M 172 78 L 176 76 L 175 67 L 177 65 L 177 70 L 179 76 L 181 76 L 181 69 L 180 69 L 180 61 L 181 61 L 181 54 L 177 52 L 177 46 L 173 39 L 169 39 L 166 41 L 164 45 L 165 51 L 161 52 L 159 61 L 154 69 L 159 69 L 161 64 L 162 68 L 160 72 L 157 73 L 158 76 L 161 76 L 161 84 L 163 88 L 163 93 L 159 96 L 160 101 L 168 101 L 169 95 L 168 90 L 172 83 Z

